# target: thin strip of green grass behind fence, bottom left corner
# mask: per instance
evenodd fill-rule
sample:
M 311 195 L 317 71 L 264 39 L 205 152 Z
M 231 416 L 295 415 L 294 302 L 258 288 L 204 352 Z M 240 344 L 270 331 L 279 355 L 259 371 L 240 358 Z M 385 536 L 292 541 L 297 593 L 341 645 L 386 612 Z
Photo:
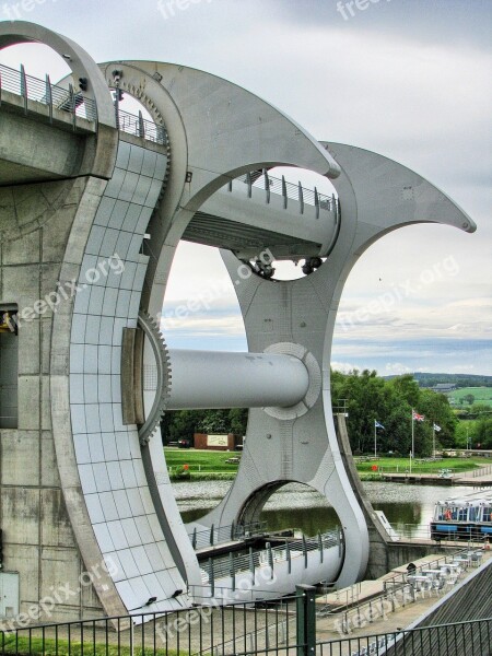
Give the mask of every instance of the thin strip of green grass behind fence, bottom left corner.
M 15 654 L 22 656 L 28 654 L 30 656 L 82 656 L 82 654 L 91 656 L 178 656 L 178 652 L 174 649 L 153 649 L 153 645 L 142 649 L 141 647 L 134 647 L 133 652 L 130 647 L 124 645 L 118 649 L 117 639 L 115 637 L 114 645 L 107 645 L 105 643 L 96 643 L 95 649 L 94 644 L 84 642 L 83 649 L 82 644 L 78 642 L 69 643 L 66 640 L 58 640 L 58 643 L 50 637 L 47 637 L 44 643 L 40 637 L 32 636 L 31 643 L 28 637 L 20 636 L 15 642 L 15 636 L 5 636 L 2 645 L 2 639 L 0 636 L 0 648 L 3 646 L 2 654 Z

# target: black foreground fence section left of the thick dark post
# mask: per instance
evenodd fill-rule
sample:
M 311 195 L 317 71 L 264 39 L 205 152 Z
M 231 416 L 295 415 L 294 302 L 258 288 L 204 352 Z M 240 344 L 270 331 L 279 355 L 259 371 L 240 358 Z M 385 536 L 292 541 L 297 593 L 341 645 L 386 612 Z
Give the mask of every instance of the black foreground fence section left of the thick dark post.
M 303 590 L 297 590 L 295 595 L 272 599 L 262 607 L 233 602 L 12 628 L 0 631 L 0 653 L 26 656 L 225 656 L 265 648 L 295 651 L 298 647 L 298 618 L 303 617 L 305 605 Z

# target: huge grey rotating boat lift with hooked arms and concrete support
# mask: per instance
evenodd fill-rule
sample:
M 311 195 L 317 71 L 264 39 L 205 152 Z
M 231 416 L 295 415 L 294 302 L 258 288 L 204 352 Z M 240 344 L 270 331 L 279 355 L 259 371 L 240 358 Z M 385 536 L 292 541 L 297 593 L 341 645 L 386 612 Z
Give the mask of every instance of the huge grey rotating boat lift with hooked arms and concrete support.
M 1 48 L 26 42 L 52 48 L 72 74 L 51 84 L 1 70 L 0 304 L 10 332 L 0 344 L 11 391 L 1 529 L 17 612 L 65 582 L 74 593 L 57 599 L 58 617 L 210 599 L 190 536 L 255 522 L 292 481 L 329 501 L 341 535 L 307 567 L 307 557 L 279 565 L 271 594 L 361 579 L 384 535 L 331 410 L 343 285 L 390 231 L 431 222 L 471 233 L 473 222 L 413 171 L 317 141 L 232 82 L 155 61 L 96 65 L 47 28 L 0 24 Z M 151 120 L 115 112 L 112 91 L 137 98 Z M 328 177 L 337 195 L 276 180 L 279 165 Z M 221 248 L 248 353 L 166 349 L 155 319 L 180 239 Z M 277 281 L 272 259 L 304 260 L 306 274 Z M 237 477 L 186 526 L 160 418 L 234 407 L 249 408 Z M 90 586 L 78 585 L 84 571 Z M 248 576 L 248 595 L 268 588 Z

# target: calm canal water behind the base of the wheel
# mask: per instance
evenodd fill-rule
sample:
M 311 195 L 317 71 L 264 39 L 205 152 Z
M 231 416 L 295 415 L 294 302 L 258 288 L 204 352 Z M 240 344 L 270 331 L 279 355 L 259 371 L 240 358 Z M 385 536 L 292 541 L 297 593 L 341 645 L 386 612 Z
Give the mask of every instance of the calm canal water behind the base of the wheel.
M 232 481 L 173 483 L 183 519 L 192 522 L 211 511 L 226 494 Z M 364 482 L 365 492 L 376 511 L 408 537 L 421 536 L 429 527 L 436 501 L 469 494 L 472 488 L 413 485 Z M 270 497 L 261 514 L 268 530 L 296 528 L 307 536 L 339 525 L 335 509 L 312 488 L 298 483 L 285 485 Z

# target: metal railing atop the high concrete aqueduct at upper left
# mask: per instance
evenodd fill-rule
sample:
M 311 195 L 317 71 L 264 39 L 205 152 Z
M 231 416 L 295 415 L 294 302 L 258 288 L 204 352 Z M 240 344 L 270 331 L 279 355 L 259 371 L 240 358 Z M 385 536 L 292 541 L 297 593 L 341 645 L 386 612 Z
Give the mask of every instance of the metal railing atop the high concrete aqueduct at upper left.
M 26 114 L 28 110 L 27 101 L 34 101 L 48 107 L 50 121 L 52 121 L 54 109 L 58 109 L 72 115 L 74 128 L 77 127 L 77 118 L 84 118 L 97 124 L 97 105 L 93 98 L 84 96 L 82 91 L 75 91 L 72 84 L 69 84 L 68 89 L 51 84 L 49 75 L 46 75 L 44 82 L 27 75 L 23 65 L 21 65 L 20 71 L 0 65 L 0 106 L 3 91 L 23 97 Z M 167 144 L 168 137 L 165 127 L 143 118 L 141 112 L 136 116 L 119 109 L 116 105 L 115 115 L 118 130 L 161 145 Z

